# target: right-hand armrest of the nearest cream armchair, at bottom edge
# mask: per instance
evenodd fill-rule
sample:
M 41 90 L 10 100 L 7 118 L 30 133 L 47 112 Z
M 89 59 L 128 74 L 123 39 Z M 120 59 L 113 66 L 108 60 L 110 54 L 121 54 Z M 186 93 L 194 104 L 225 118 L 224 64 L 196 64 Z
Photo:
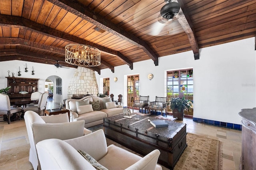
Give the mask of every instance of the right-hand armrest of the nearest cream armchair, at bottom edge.
M 153 150 L 126 170 L 155 170 L 159 155 L 160 151 L 158 149 Z

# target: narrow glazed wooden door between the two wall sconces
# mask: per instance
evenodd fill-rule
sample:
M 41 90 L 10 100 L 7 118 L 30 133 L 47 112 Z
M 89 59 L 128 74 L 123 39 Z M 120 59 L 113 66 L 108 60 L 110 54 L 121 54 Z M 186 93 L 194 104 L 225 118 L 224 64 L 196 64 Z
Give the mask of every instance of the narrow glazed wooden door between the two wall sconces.
M 140 98 L 139 94 L 139 75 L 127 76 L 127 106 L 132 107 L 132 102 Z

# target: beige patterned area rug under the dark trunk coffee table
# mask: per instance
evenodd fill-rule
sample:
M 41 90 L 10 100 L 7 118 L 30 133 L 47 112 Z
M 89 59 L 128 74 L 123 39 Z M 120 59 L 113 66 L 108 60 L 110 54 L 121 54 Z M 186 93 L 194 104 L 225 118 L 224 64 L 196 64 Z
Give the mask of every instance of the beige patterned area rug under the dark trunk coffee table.
M 103 127 L 100 126 L 90 130 L 94 131 L 98 130 L 98 128 Z M 184 150 L 174 170 L 222 170 L 222 143 L 219 140 L 192 133 L 188 133 L 186 139 L 188 147 Z M 116 146 L 137 154 L 108 138 L 107 144 L 115 144 Z M 164 166 L 162 166 L 162 168 L 163 170 L 168 170 L 168 168 Z

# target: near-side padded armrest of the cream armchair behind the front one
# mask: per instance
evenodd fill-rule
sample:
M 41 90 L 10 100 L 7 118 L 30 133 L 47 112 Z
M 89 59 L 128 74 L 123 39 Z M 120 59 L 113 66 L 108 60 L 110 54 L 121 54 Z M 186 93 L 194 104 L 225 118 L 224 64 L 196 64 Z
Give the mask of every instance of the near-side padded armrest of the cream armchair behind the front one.
M 84 121 L 68 123 L 32 123 L 34 142 L 57 138 L 61 140 L 84 136 Z

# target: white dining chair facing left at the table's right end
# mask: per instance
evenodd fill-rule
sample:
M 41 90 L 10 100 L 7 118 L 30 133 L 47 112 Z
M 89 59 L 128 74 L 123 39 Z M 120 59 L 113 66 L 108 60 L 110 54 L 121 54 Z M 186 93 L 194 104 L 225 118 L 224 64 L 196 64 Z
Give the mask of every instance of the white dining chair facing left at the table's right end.
M 35 106 L 28 105 L 27 107 L 23 108 L 23 113 L 25 113 L 26 111 L 34 111 L 38 113 L 38 115 L 44 115 L 42 111 L 44 112 L 44 109 L 46 109 L 47 97 L 48 97 L 48 93 L 42 93 L 40 95 L 38 104 Z

